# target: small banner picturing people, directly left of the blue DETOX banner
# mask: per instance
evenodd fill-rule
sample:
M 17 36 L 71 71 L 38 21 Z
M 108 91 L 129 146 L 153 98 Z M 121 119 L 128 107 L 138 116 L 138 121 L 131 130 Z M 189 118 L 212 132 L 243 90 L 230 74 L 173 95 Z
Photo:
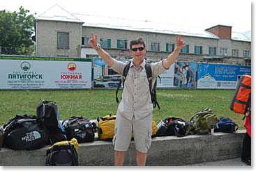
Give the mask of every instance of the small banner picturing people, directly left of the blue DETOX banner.
M 196 87 L 197 63 L 175 62 L 174 63 L 174 88 Z

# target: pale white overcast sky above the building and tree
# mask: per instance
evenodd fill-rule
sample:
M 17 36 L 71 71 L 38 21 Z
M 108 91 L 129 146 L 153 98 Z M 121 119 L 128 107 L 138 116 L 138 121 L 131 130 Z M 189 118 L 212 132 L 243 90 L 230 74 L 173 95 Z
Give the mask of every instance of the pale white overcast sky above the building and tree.
M 0 0 L 0 10 L 20 6 L 40 15 L 58 4 L 70 13 L 164 22 L 175 26 L 208 29 L 218 24 L 232 31 L 251 31 L 253 0 Z

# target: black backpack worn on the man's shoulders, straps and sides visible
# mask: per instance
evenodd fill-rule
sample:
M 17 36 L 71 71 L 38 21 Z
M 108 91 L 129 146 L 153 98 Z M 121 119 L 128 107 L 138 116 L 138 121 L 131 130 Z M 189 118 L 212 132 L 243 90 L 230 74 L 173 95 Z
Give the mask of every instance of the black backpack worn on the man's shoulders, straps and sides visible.
M 130 60 L 126 66 L 124 67 L 123 69 L 123 76 L 121 77 L 120 81 L 119 81 L 119 85 L 117 86 L 116 88 L 116 102 L 119 103 L 119 98 L 117 97 L 118 95 L 118 91 L 119 91 L 119 88 L 121 88 L 121 83 L 123 81 L 123 88 L 124 88 L 124 82 L 126 81 L 126 76 L 130 70 L 130 63 L 132 61 Z M 146 63 L 145 64 L 145 70 L 146 70 L 146 77 L 149 81 L 149 92 L 150 92 L 150 96 L 151 96 L 151 101 L 152 101 L 152 104 L 153 104 L 153 108 L 156 108 L 156 106 L 158 106 L 158 109 L 160 109 L 160 106 L 158 104 L 158 101 L 156 99 L 156 86 L 157 86 L 157 79 L 155 81 L 155 83 L 153 84 L 153 87 L 152 87 L 152 70 L 151 70 L 151 65 L 150 63 Z M 160 79 L 160 76 L 158 76 L 158 78 Z

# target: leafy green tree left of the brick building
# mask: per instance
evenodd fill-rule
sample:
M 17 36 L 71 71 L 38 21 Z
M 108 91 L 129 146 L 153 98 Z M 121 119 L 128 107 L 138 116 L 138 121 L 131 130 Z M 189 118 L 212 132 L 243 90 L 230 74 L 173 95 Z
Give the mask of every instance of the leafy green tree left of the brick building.
M 33 55 L 33 15 L 22 6 L 19 12 L 0 10 L 0 54 Z

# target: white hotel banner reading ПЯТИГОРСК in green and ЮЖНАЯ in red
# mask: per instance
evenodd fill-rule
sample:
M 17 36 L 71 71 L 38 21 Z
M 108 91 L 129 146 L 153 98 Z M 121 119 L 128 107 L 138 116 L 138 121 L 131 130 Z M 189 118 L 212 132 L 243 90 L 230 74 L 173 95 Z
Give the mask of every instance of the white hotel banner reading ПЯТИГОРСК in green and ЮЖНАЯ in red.
M 0 56 L 0 89 L 91 88 L 91 59 Z

